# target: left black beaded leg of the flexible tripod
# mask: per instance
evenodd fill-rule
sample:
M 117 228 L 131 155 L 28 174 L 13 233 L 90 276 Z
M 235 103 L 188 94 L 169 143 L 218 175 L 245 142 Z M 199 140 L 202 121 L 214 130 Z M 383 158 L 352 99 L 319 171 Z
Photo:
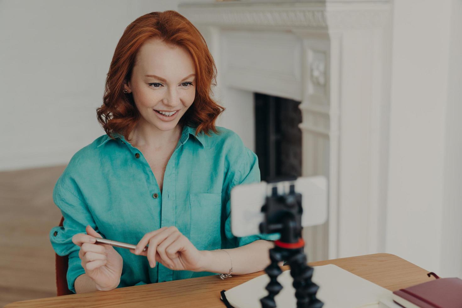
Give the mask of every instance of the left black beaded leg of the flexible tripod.
M 268 274 L 270 282 L 266 286 L 268 295 L 260 299 L 262 308 L 276 307 L 274 296 L 278 295 L 280 290 L 282 290 L 282 285 L 276 280 L 278 276 L 282 273 L 278 265 L 278 262 L 284 259 L 285 254 L 286 253 L 284 251 L 281 251 L 278 247 L 274 247 L 269 250 L 269 258 L 271 260 L 271 264 L 267 266 L 265 272 Z

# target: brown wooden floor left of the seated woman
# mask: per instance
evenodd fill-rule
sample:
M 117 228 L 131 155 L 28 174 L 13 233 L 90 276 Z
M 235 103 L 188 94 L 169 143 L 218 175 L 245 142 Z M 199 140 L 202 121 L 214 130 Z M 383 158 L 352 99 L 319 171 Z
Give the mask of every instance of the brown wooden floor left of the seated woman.
M 0 172 L 0 307 L 56 296 L 49 232 L 61 219 L 52 193 L 65 167 Z

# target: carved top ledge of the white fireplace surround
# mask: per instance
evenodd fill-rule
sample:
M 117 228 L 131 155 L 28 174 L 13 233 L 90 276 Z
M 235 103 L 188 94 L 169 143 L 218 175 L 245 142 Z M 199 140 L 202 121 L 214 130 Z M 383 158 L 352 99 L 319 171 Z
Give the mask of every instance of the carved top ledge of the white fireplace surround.
M 324 30 L 382 27 L 389 18 L 389 1 L 219 2 L 181 4 L 179 10 L 197 25 L 252 30 L 310 27 Z M 191 15 L 189 15 L 191 14 Z

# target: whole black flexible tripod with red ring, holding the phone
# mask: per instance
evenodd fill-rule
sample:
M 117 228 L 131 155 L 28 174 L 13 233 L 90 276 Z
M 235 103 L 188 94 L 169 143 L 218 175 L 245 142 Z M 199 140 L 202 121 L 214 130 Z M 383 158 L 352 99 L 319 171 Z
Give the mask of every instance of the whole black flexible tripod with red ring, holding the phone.
M 276 280 L 282 273 L 278 262 L 287 260 L 291 267 L 292 285 L 296 290 L 297 308 L 321 308 L 324 304 L 316 298 L 319 286 L 311 281 L 313 268 L 308 266 L 303 252 L 302 195 L 295 193 L 294 184 L 290 185 L 289 193 L 282 195 L 278 195 L 277 187 L 273 187 L 271 196 L 266 197 L 266 204 L 261 207 L 261 211 L 265 213 L 265 220 L 260 223 L 260 232 L 281 234 L 280 239 L 274 242 L 275 247 L 269 250 L 271 264 L 265 272 L 270 277 L 270 282 L 266 286 L 268 295 L 260 299 L 261 307 L 276 307 L 274 296 L 282 290 L 282 285 Z

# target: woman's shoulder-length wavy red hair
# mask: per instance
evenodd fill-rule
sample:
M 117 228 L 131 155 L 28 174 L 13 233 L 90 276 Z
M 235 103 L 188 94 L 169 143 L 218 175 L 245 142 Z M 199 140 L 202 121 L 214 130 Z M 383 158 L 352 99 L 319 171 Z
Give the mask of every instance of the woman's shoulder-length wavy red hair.
M 193 104 L 178 122 L 196 127 L 196 134 L 215 128 L 217 117 L 225 111 L 211 97 L 211 85 L 216 84 L 217 69 L 207 43 L 199 30 L 176 11 L 151 12 L 134 20 L 125 28 L 117 43 L 109 66 L 103 105 L 97 108 L 97 119 L 104 131 L 120 133 L 128 140 L 140 119 L 132 95 L 123 93 L 123 81 L 130 80 L 136 55 L 147 40 L 157 37 L 170 46 L 185 48 L 191 55 L 196 70 L 196 93 Z M 212 92 L 213 94 L 213 92 Z

